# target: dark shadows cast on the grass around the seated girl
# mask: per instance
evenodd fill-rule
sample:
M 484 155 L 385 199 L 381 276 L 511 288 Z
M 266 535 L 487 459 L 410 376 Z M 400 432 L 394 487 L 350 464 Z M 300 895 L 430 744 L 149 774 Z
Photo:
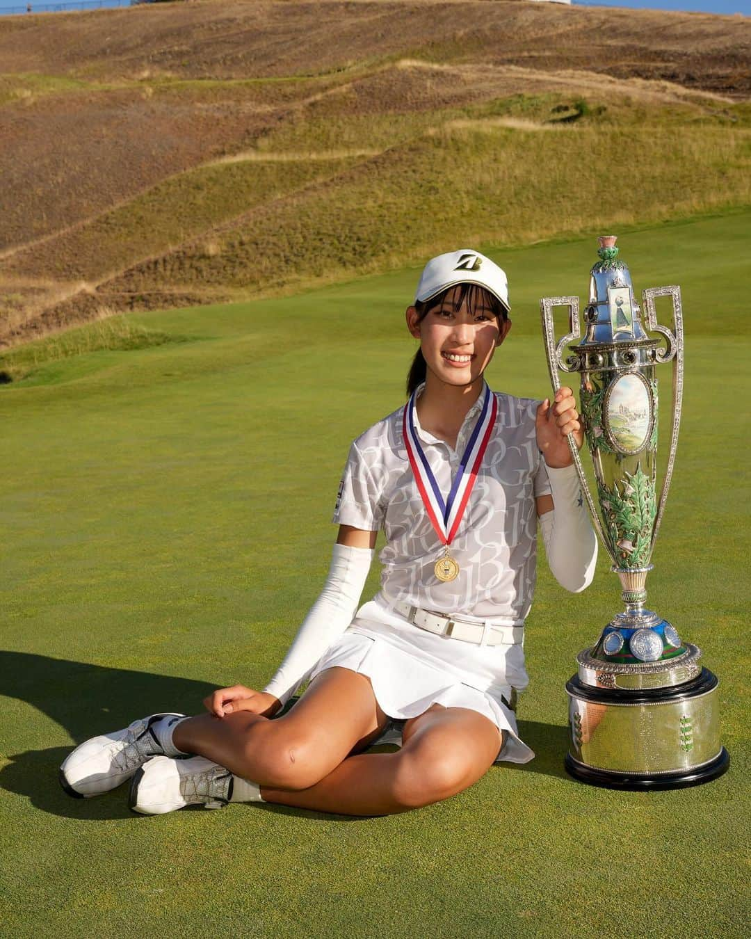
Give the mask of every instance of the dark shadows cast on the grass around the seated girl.
M 198 714 L 203 699 L 217 687 L 171 675 L 108 669 L 45 655 L 0 651 L 0 693 L 26 701 L 52 717 L 76 743 L 126 727 L 146 714 L 159 711 Z M 525 766 L 505 763 L 504 769 L 566 777 L 562 765 L 568 746 L 566 728 L 520 721 L 519 732 L 537 758 Z M 383 749 L 386 747 L 377 747 L 378 751 Z M 127 807 L 127 786 L 96 799 L 71 799 L 62 791 L 57 772 L 69 752 L 70 747 L 51 747 L 9 755 L 10 762 L 0 770 L 0 787 L 26 796 L 36 808 L 54 815 L 91 821 L 133 818 Z M 262 808 L 307 818 L 332 818 L 328 813 L 301 808 L 271 804 Z M 336 817 L 343 821 L 359 818 Z

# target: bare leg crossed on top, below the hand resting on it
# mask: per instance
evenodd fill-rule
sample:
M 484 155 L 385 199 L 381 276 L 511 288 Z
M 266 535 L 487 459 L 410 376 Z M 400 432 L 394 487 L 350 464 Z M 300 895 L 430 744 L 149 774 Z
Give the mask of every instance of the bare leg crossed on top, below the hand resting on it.
M 367 746 L 387 721 L 367 676 L 333 668 L 317 675 L 284 717 L 192 717 L 177 725 L 173 742 L 261 785 L 304 789 L 353 748 Z

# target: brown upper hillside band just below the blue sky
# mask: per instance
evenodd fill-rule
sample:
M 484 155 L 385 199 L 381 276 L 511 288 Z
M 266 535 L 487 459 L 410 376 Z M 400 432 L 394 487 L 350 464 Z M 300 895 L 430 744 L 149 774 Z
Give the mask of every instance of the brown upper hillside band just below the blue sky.
M 422 52 L 535 69 L 576 68 L 748 94 L 751 24 L 737 17 L 496 2 L 272 3 L 191 0 L 14 18 L 0 24 L 12 72 L 131 80 L 320 74 Z

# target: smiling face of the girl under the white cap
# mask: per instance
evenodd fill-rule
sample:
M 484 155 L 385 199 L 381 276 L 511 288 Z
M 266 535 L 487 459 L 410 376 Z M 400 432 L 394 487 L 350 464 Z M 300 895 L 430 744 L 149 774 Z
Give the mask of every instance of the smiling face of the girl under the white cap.
M 420 339 L 428 373 L 456 387 L 481 378 L 511 329 L 511 320 L 497 316 L 495 299 L 478 285 L 456 285 L 425 308 L 408 307 L 406 323 Z

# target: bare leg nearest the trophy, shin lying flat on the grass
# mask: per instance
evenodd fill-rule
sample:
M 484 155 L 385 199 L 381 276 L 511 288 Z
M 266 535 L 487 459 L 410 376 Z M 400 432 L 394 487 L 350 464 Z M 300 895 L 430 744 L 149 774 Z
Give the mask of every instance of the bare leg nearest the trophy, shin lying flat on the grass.
M 267 802 L 342 815 L 387 815 L 467 789 L 492 765 L 503 737 L 487 717 L 434 704 L 406 722 L 398 753 L 350 756 L 308 789 L 261 787 Z

